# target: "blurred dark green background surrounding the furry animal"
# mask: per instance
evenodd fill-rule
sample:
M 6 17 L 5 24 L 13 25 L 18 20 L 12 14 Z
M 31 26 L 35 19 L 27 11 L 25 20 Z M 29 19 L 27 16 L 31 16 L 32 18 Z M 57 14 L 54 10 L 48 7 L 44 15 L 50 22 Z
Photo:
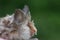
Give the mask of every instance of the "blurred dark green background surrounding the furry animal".
M 30 7 L 39 40 L 60 40 L 60 0 L 0 0 L 0 17 Z

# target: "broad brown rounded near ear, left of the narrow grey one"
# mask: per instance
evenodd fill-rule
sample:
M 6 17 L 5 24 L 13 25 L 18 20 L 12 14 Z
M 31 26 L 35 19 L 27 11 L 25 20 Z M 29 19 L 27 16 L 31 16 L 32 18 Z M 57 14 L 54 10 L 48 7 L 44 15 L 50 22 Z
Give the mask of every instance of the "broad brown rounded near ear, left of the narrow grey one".
M 15 15 L 14 15 L 14 20 L 16 20 L 16 21 L 23 21 L 23 19 L 24 19 L 24 13 L 23 13 L 23 11 L 21 10 L 21 9 L 16 9 L 15 10 Z

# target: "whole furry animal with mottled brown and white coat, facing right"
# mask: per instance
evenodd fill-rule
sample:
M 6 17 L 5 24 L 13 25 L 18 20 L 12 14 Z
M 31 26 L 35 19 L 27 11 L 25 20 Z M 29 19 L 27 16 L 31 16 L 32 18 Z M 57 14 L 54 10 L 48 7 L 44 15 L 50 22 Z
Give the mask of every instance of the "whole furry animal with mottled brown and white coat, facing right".
M 0 37 L 8 40 L 38 40 L 31 39 L 37 29 L 31 21 L 30 11 L 27 5 L 23 10 L 16 9 L 14 14 L 0 18 Z

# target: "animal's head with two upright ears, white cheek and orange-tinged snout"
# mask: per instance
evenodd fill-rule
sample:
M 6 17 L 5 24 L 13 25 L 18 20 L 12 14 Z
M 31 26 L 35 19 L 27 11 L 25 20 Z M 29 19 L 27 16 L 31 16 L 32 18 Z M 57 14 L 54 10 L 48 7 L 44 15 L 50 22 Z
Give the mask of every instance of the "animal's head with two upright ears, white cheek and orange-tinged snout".
M 18 25 L 20 39 L 30 39 L 37 32 L 34 22 L 31 21 L 30 11 L 25 5 L 24 9 L 16 9 L 14 23 Z

